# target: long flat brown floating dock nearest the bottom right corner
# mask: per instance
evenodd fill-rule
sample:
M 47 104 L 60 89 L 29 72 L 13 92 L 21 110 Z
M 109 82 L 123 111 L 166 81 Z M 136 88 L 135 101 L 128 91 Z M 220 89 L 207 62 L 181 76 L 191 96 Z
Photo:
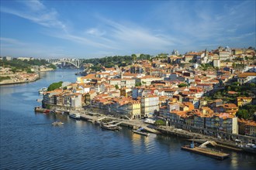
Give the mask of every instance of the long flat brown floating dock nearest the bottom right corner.
M 190 148 L 187 145 L 182 146 L 182 150 L 191 151 L 191 152 L 194 152 L 194 153 L 200 154 L 200 155 L 206 155 L 206 156 L 209 156 L 211 158 L 216 158 L 216 159 L 219 159 L 219 160 L 223 160 L 223 159 L 228 158 L 230 156 L 229 154 L 219 152 L 219 151 L 212 151 L 212 150 L 209 150 L 209 149 L 206 149 L 206 148 L 199 148 L 199 147 Z

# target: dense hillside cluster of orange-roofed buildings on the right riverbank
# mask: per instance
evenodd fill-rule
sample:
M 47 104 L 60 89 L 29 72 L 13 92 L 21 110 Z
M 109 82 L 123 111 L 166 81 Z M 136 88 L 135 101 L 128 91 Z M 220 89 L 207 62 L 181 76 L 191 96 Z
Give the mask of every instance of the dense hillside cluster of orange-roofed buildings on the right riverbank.
M 158 116 L 175 128 L 214 136 L 218 131 L 256 136 L 255 121 L 236 117 L 240 106 L 255 104 L 255 96 L 240 96 L 233 103 L 205 99 L 230 81 L 256 83 L 254 49 L 219 47 L 184 56 L 178 56 L 177 50 L 172 54 L 120 68 L 102 66 L 100 72 L 92 71 L 76 83 L 44 93 L 43 104 L 73 109 L 86 105 L 132 119 Z M 205 64 L 213 67 L 203 69 Z

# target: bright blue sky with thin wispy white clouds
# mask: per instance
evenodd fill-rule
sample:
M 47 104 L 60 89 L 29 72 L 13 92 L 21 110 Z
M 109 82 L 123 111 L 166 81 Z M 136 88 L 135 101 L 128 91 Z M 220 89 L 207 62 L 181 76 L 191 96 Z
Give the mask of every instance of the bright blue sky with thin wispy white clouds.
M 93 58 L 255 47 L 254 1 L 1 0 L 1 56 Z

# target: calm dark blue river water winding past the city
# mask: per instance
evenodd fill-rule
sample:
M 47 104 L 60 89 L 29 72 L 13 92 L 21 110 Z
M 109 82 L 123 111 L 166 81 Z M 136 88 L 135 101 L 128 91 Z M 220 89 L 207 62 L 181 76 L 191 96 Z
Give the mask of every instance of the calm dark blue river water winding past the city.
M 256 169 L 256 156 L 233 151 L 223 161 L 182 151 L 182 138 L 106 131 L 67 115 L 36 114 L 41 87 L 76 80 L 77 70 L 42 73 L 42 79 L 0 87 L 0 169 Z M 63 126 L 52 126 L 55 120 Z

